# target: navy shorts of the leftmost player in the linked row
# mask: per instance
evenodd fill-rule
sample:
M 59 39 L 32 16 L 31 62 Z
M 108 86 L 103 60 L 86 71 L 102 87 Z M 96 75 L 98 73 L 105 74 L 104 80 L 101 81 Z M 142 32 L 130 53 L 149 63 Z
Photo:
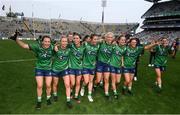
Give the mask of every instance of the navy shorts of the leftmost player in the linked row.
M 52 72 L 51 70 L 42 70 L 42 69 L 35 69 L 35 76 L 43 76 L 43 77 L 47 77 L 47 76 L 52 76 Z

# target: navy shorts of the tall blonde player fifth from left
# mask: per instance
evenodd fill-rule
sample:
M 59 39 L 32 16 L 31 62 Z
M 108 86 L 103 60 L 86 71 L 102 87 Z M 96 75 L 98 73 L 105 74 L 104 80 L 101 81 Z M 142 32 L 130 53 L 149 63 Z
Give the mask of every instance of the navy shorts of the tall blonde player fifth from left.
M 97 66 L 96 66 L 96 71 L 100 72 L 100 73 L 102 73 L 102 72 L 110 72 L 110 65 L 98 61 Z

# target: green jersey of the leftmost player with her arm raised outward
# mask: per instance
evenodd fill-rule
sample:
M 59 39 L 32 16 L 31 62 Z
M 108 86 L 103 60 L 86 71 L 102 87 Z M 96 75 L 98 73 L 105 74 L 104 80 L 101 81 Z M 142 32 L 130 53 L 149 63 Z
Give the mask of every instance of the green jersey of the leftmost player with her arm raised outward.
M 53 57 L 53 45 L 50 45 L 49 48 L 44 49 L 38 43 L 28 44 L 30 50 L 32 50 L 37 57 L 36 69 L 43 69 L 43 70 L 51 70 L 52 65 L 52 57 Z

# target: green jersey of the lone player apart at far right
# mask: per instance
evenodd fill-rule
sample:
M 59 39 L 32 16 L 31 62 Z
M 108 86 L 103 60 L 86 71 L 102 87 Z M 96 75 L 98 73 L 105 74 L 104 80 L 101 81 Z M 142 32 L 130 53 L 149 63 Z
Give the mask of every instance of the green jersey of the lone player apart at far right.
M 158 45 L 155 47 L 155 52 L 154 64 L 158 66 L 166 66 L 168 55 L 171 53 L 171 48 L 169 46 L 163 47 L 162 45 Z

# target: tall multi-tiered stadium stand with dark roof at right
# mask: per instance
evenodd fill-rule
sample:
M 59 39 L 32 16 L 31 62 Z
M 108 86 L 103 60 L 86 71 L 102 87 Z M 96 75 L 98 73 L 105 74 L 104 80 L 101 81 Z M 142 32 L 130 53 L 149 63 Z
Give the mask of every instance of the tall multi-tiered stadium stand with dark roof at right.
M 153 2 L 152 7 L 141 17 L 145 20 L 141 26 L 144 31 L 135 34 L 143 42 L 150 42 L 151 39 L 159 39 L 166 36 L 173 41 L 180 38 L 180 1 L 159 1 Z

